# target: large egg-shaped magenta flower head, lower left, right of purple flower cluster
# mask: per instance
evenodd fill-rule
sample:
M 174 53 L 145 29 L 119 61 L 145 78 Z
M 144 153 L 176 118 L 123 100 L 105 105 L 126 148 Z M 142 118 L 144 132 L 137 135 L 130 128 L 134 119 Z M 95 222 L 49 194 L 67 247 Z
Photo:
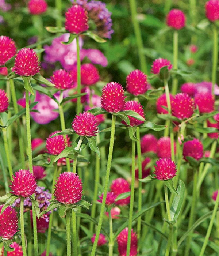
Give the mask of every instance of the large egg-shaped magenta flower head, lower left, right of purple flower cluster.
M 56 181 L 54 196 L 62 204 L 75 204 L 82 199 L 82 182 L 76 173 L 61 173 Z

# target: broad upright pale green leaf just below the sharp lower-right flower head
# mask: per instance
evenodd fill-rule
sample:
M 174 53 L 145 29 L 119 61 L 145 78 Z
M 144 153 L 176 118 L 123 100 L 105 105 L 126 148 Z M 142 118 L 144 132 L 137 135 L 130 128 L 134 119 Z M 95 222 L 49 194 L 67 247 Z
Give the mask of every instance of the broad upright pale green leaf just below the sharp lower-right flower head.
M 171 220 L 176 220 L 178 218 L 183 205 L 184 196 L 185 196 L 185 184 L 182 180 L 179 180 L 177 193 L 179 196 L 174 196 L 173 203 L 170 208 Z

